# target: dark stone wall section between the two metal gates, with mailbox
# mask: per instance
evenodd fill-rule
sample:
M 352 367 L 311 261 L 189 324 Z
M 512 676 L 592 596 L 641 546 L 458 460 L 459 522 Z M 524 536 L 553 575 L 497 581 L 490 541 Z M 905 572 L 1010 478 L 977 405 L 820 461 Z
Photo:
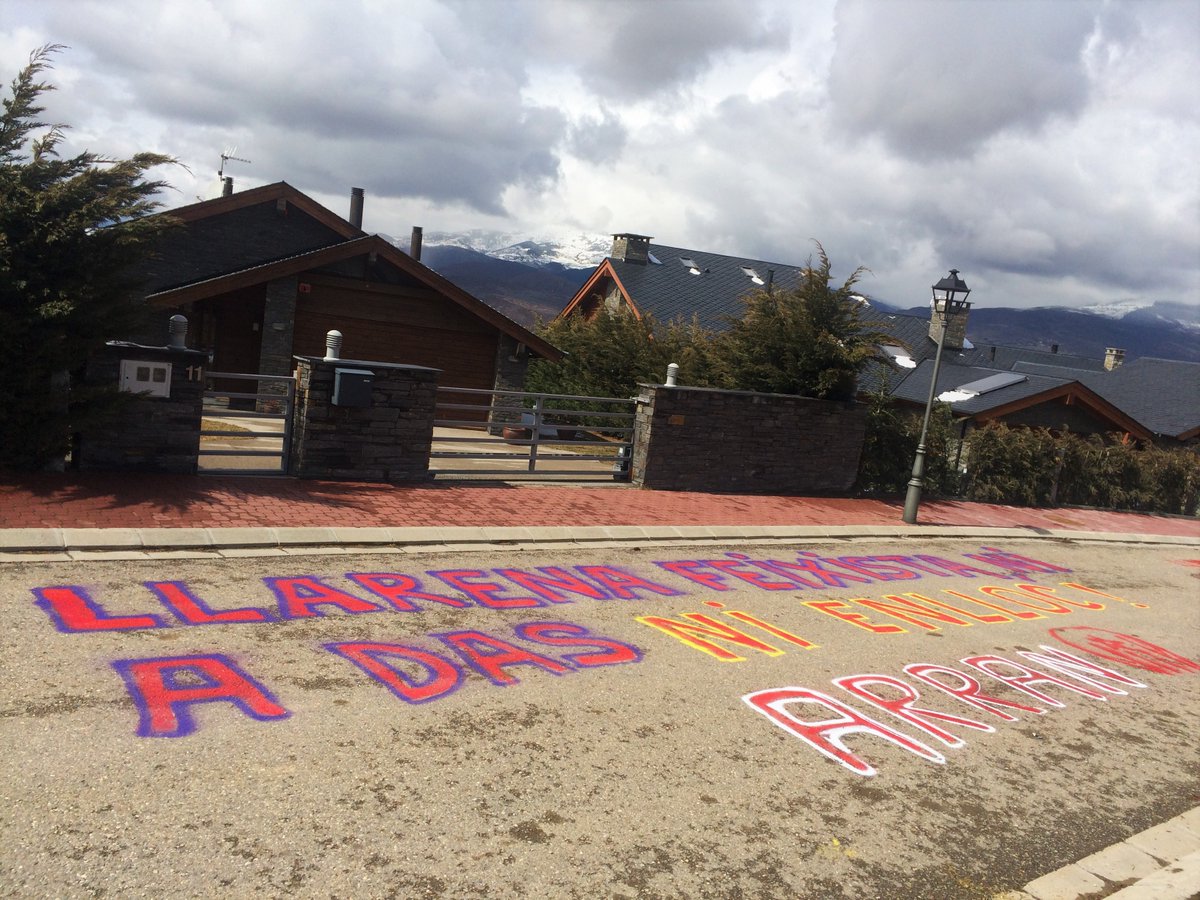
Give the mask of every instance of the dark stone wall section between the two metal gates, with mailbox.
M 438 371 L 424 366 L 296 356 L 289 474 L 355 481 L 430 475 Z M 371 406 L 334 406 L 338 368 L 373 374 Z

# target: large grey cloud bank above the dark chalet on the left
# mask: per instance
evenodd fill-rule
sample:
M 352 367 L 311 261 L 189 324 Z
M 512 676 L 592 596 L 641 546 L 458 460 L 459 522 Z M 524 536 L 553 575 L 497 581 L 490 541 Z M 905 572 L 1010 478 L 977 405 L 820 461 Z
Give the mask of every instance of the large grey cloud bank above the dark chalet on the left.
M 503 35 L 481 34 L 470 5 L 408 19 L 362 4 L 302 17 L 290 4 L 139 8 L 150 22 L 122 4 L 56 6 L 50 28 L 142 114 L 228 134 L 212 157 L 236 143 L 256 178 L 355 179 L 494 214 L 508 188 L 558 176 L 565 118 L 524 102 L 521 64 L 504 61 Z

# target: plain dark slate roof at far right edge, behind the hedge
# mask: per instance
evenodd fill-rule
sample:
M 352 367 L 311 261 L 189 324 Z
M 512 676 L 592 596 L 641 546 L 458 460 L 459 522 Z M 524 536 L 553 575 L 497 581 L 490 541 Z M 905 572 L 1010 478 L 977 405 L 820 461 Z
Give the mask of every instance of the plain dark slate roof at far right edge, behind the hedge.
M 1200 362 L 1141 356 L 1084 383 L 1156 434 L 1200 437 Z

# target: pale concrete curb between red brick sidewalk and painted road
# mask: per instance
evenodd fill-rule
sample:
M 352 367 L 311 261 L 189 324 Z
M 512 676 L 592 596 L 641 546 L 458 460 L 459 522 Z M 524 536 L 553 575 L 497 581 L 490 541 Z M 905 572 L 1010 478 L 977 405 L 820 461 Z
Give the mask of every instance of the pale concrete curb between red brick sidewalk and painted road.
M 0 562 L 142 559 L 180 556 L 276 556 L 287 553 L 452 552 L 518 546 L 647 546 L 738 541 L 910 538 L 1049 539 L 1200 546 L 1189 536 L 1112 532 L 984 528 L 978 526 L 576 526 L 425 528 L 7 528 L 0 529 Z

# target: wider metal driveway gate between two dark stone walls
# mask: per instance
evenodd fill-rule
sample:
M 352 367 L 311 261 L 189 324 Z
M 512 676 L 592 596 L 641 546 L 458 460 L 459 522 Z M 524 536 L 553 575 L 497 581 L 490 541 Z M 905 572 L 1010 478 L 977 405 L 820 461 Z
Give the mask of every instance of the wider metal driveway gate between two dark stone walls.
M 430 472 L 438 478 L 625 481 L 632 400 L 438 388 Z

